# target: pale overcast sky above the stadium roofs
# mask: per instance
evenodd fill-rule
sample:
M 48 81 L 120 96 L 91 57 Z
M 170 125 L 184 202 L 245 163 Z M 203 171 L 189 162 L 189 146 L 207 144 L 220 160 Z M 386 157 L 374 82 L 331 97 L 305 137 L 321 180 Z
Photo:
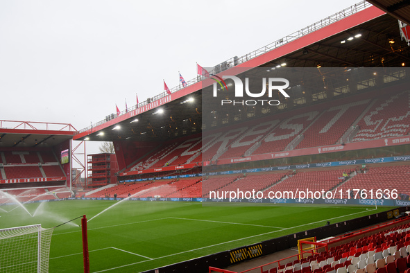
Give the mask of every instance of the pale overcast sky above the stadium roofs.
M 0 120 L 77 130 L 358 0 L 2 0 Z

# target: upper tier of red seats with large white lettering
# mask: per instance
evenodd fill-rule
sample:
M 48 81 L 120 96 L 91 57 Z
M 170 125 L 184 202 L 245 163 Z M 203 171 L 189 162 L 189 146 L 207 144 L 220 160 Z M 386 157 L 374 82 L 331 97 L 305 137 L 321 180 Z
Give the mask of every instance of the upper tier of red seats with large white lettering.
M 358 96 L 357 100 L 341 100 L 342 104 L 336 101 L 296 110 L 291 117 L 289 114 L 268 116 L 259 120 L 257 125 L 247 122 L 220 128 L 204 135 L 202 143 L 198 135 L 183 141 L 173 140 L 130 170 L 343 143 L 349 141 L 342 136 L 352 126 L 359 128 L 355 135 L 350 135 L 352 141 L 407 135 L 410 130 L 410 91 L 395 93 L 388 92 L 381 98 Z

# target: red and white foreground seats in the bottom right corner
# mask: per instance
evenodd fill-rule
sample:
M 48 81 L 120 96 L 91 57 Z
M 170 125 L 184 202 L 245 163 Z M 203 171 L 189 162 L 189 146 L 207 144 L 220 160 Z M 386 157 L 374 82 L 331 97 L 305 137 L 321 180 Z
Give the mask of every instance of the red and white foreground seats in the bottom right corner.
M 410 224 L 331 247 L 263 273 L 408 273 Z

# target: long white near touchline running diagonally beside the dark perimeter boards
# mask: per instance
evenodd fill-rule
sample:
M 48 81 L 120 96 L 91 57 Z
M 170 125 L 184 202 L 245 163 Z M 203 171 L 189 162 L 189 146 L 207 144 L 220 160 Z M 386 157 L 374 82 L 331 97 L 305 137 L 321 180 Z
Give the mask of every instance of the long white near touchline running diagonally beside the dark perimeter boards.
M 371 210 L 369 209 L 368 211 L 375 211 L 375 210 L 376 210 L 376 209 L 371 209 Z M 263 236 L 263 235 L 266 235 L 266 234 L 274 234 L 274 233 L 276 233 L 276 232 L 284 231 L 284 230 L 287 230 L 287 229 L 294 229 L 294 228 L 296 228 L 296 227 L 304 227 L 304 226 L 307 226 L 307 225 L 309 225 L 309 224 L 316 224 L 316 223 L 318 223 L 318 222 L 323 222 L 323 221 L 327 221 L 327 220 L 333 220 L 333 219 L 342 218 L 342 217 L 350 216 L 350 215 L 355 215 L 355 214 L 358 214 L 358 213 L 364 213 L 364 212 L 368 212 L 368 211 L 359 211 L 359 212 L 357 212 L 357 213 L 350 213 L 350 214 L 347 214 L 347 215 L 341 215 L 341 216 L 338 216 L 338 217 L 329 218 L 329 219 L 324 219 L 324 220 L 320 220 L 320 221 L 316 221 L 316 222 L 310 222 L 310 223 L 307 223 L 307 224 L 300 224 L 300 225 L 295 226 L 295 227 L 287 227 L 287 228 L 280 229 L 280 230 L 270 231 L 270 232 L 266 232 L 266 233 L 264 233 L 264 234 L 257 234 L 257 235 L 248 236 L 248 237 L 245 237 L 245 238 L 239 238 L 239 239 L 236 239 L 236 240 L 230 240 L 230 241 L 224 242 L 224 243 L 218 243 L 218 244 L 215 244 L 215 245 L 208 245 L 208 246 L 206 246 L 206 247 L 199 247 L 199 248 L 196 248 L 196 249 L 190 249 L 190 250 L 187 250 L 187 251 L 185 251 L 185 252 L 178 252 L 178 253 L 169 254 L 169 255 L 166 255 L 166 256 L 158 257 L 158 258 L 153 258 L 153 259 L 150 260 L 150 261 L 155 261 L 155 260 L 159 260 L 159 259 L 161 259 L 161 258 L 167 258 L 167 257 L 171 257 L 171 256 L 176 256 L 176 255 L 184 254 L 184 253 L 187 253 L 187 252 L 194 252 L 194 251 L 197 251 L 197 250 L 200 250 L 200 249 L 205 249 L 205 248 L 208 248 L 208 247 L 216 247 L 217 245 L 225 245 L 225 244 L 228 244 L 228 243 L 237 242 L 237 241 L 239 241 L 239 240 L 245 240 L 245 239 L 248 239 L 248 238 Z M 118 266 L 118 267 L 112 267 L 112 268 L 109 268 L 109 269 L 106 269 L 106 270 L 96 271 L 96 272 L 94 272 L 94 273 L 106 272 L 106 271 L 110 271 L 110 270 L 116 270 L 116 269 L 119 269 L 119 268 L 122 268 L 122 267 L 127 267 L 127 266 L 130 266 L 130 265 L 137 265 L 137 264 L 139 264 L 139 263 L 145 263 L 145 262 L 146 262 L 146 261 L 140 261 L 140 262 L 137 262 L 137 263 L 130 263 L 130 264 L 128 264 L 128 265 L 121 265 L 121 266 Z

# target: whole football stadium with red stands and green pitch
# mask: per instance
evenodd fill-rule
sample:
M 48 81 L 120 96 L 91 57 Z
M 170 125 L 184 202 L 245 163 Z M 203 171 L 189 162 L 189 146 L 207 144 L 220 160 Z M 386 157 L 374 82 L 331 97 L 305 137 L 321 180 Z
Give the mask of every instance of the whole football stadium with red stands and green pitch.
M 81 130 L 1 120 L 0 272 L 410 272 L 409 64 L 368 0 Z

